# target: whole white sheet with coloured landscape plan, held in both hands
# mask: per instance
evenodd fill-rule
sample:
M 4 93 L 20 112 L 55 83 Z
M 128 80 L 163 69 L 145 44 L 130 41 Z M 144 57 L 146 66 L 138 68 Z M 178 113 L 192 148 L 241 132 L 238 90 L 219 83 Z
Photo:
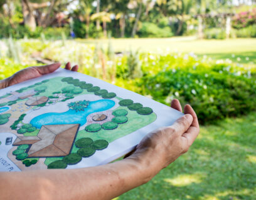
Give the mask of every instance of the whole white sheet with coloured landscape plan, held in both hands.
M 58 69 L 0 91 L 0 171 L 109 163 L 182 114 L 90 76 Z

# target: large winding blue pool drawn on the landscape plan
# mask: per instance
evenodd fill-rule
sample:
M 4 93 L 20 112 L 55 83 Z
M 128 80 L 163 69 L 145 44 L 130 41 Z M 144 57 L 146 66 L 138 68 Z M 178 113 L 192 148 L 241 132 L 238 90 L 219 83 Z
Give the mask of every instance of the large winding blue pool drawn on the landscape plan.
M 113 106 L 115 106 L 115 101 L 110 99 L 91 101 L 84 111 L 69 109 L 65 113 L 45 113 L 33 118 L 30 124 L 38 129 L 43 125 L 51 124 L 80 124 L 80 126 L 83 126 L 87 122 L 89 114 L 106 111 Z

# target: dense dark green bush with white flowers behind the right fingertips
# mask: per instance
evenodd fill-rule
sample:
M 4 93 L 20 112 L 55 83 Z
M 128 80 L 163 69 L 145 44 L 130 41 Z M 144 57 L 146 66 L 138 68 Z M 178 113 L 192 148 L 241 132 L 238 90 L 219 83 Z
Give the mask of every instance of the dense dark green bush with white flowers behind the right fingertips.
M 191 104 L 201 123 L 237 116 L 256 108 L 256 101 L 251 100 L 256 99 L 255 79 L 247 78 L 241 69 L 225 65 L 196 70 L 169 69 L 145 76 L 141 84 L 146 89 L 144 95 L 151 95 L 156 101 L 169 105 L 169 99 L 176 96 L 181 104 Z

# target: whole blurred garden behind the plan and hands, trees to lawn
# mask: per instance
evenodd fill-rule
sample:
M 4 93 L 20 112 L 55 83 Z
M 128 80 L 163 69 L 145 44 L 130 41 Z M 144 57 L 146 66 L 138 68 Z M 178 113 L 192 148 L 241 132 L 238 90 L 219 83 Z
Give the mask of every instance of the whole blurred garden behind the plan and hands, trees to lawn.
M 191 150 L 116 199 L 255 199 L 255 0 L 0 0 L 0 79 L 80 73 L 195 108 Z

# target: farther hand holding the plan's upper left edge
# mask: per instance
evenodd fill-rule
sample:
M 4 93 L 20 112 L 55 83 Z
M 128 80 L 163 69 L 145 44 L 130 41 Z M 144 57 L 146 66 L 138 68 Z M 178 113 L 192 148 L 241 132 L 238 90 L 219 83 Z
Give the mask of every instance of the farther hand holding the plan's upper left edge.
M 38 78 L 43 74 L 53 73 L 58 68 L 60 68 L 60 63 L 53 63 L 46 66 L 33 66 L 22 69 L 17 73 L 13 74 L 13 76 L 10 76 L 9 78 L 2 80 L 0 82 L 0 89 L 21 83 L 23 81 L 27 81 L 29 79 Z M 73 68 L 71 68 L 71 64 L 68 62 L 65 66 L 65 69 L 78 71 L 78 66 L 75 65 L 73 66 Z

